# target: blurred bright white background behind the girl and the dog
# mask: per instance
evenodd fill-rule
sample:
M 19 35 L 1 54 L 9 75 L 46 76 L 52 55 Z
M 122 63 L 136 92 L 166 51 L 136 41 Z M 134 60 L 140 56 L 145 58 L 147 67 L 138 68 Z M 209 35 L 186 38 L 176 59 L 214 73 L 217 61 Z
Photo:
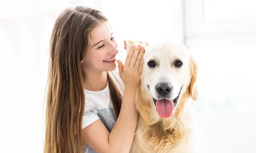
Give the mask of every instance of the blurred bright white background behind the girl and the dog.
M 194 153 L 256 153 L 255 0 L 0 0 L 1 153 L 42 153 L 49 40 L 67 7 L 90 6 L 123 40 L 173 39 L 196 58 Z

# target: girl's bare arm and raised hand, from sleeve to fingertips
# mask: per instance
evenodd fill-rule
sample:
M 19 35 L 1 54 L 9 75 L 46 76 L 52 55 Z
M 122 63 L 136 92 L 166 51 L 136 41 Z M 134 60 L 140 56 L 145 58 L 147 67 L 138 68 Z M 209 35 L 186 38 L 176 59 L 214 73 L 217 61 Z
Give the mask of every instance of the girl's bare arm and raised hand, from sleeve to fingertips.
M 133 142 L 138 112 L 135 107 L 135 89 L 140 82 L 145 48 L 141 45 L 131 47 L 125 65 L 119 63 L 119 75 L 125 84 L 121 111 L 116 123 L 108 132 L 101 120 L 97 120 L 83 129 L 83 141 L 97 153 L 129 153 Z

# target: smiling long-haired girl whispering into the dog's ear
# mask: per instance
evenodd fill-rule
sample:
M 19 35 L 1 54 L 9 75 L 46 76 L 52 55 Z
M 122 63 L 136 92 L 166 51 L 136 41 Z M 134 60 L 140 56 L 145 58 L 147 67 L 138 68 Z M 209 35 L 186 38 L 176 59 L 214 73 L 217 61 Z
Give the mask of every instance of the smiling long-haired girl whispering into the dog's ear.
M 144 52 L 133 45 L 123 65 L 100 11 L 77 6 L 59 15 L 50 41 L 44 153 L 129 152 Z

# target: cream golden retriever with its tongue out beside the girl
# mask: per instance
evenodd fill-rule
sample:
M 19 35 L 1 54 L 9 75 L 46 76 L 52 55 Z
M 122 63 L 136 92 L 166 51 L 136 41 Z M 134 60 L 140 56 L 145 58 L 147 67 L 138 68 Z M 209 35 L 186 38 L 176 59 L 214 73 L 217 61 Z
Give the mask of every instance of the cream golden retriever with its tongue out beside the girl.
M 139 111 L 130 153 L 192 153 L 193 110 L 189 98 L 198 98 L 198 66 L 189 50 L 169 40 L 155 43 L 124 41 L 145 46 L 141 83 L 137 88 Z

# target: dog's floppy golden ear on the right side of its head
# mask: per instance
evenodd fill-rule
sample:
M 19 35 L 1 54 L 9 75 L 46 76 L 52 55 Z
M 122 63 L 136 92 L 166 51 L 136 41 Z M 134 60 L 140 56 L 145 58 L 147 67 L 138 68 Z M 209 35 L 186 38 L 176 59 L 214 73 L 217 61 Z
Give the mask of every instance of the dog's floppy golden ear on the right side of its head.
M 196 85 L 197 73 L 198 73 L 198 64 L 195 62 L 195 59 L 190 57 L 190 70 L 191 70 L 191 80 L 190 80 L 190 94 L 191 98 L 196 101 L 198 99 L 198 89 Z

